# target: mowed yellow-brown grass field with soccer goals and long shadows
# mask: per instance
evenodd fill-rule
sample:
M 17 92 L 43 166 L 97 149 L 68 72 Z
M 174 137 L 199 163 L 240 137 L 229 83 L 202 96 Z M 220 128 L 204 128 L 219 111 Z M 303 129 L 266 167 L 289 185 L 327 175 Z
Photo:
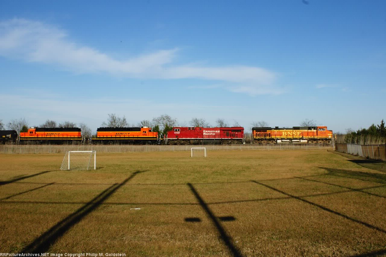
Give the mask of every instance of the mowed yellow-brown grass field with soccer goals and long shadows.
M 62 160 L 0 155 L 0 252 L 386 254 L 384 163 L 325 149 L 97 153 L 89 171 Z

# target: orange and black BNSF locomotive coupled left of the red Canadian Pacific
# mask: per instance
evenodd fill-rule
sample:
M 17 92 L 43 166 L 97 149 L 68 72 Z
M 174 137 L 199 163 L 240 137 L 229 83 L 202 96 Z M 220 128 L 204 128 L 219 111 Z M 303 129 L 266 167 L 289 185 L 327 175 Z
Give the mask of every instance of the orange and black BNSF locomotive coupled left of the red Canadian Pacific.
M 92 144 L 157 144 L 158 132 L 151 128 L 98 128 L 91 136 Z

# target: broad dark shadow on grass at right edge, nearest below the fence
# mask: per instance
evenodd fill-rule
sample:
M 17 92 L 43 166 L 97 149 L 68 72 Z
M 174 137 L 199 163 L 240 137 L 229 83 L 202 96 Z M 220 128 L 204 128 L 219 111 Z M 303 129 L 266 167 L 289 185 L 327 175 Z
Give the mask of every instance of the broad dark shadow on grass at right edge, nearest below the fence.
M 386 184 L 386 174 L 362 172 L 362 171 L 350 171 L 346 169 L 332 169 L 319 167 L 320 169 L 325 169 L 328 173 L 326 175 L 339 176 L 344 178 L 359 179 L 364 181 L 376 182 L 381 184 Z

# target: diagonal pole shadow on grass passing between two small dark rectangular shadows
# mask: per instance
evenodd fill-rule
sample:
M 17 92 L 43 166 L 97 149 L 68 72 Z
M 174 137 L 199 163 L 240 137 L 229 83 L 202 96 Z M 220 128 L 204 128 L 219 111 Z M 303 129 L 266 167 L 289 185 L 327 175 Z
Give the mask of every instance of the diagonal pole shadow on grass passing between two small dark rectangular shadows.
M 190 183 L 188 183 L 188 186 L 198 202 L 200 203 L 201 207 L 204 209 L 204 211 L 207 213 L 208 217 L 212 220 L 212 223 L 217 228 L 218 233 L 220 233 L 220 237 L 225 243 L 225 245 L 228 247 L 229 251 L 232 253 L 233 256 L 242 256 L 239 249 L 235 247 L 232 243 L 232 238 L 227 235 L 227 232 L 225 232 L 224 228 L 221 226 L 220 222 L 216 218 L 216 216 L 213 214 L 213 212 L 210 210 L 208 205 L 205 203 L 205 201 L 201 198 L 200 194 L 197 192 L 197 190 L 194 188 L 194 186 Z M 233 218 L 233 217 L 232 217 Z M 234 218 L 233 218 L 234 219 Z

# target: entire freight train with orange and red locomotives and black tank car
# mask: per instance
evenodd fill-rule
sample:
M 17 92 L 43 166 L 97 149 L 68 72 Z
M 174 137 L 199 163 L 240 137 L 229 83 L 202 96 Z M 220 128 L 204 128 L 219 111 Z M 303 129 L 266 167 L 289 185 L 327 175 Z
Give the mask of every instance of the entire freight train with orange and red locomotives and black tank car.
M 27 132 L 0 130 L 0 142 L 16 144 L 280 144 L 331 143 L 326 126 L 254 127 L 247 138 L 243 127 L 173 127 L 166 135 L 149 127 L 102 127 L 96 135 L 82 135 L 80 128 L 35 128 Z

